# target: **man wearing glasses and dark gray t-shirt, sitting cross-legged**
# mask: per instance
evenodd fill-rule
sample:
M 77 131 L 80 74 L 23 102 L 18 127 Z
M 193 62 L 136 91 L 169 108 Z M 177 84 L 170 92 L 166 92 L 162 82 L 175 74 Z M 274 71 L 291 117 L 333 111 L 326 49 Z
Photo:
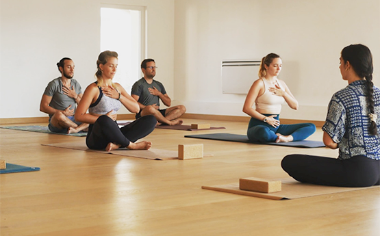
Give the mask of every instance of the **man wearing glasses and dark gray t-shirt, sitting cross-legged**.
M 162 83 L 153 79 L 155 77 L 155 61 L 145 59 L 141 63 L 141 70 L 144 77 L 136 81 L 132 86 L 131 96 L 138 102 L 140 112 L 136 118 L 141 116 L 155 116 L 157 122 L 169 125 L 182 124 L 178 118 L 186 112 L 186 107 L 177 105 L 170 107 L 171 99 L 166 93 Z M 167 109 L 160 109 L 160 100 Z

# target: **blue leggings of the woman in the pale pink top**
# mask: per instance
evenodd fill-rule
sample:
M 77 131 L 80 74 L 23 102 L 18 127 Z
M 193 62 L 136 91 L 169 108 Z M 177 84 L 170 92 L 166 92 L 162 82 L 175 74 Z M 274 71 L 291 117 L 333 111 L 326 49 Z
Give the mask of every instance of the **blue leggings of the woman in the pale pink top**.
M 270 114 L 264 114 L 271 116 Z M 279 120 L 279 116 L 275 117 Z M 302 124 L 280 124 L 277 128 L 270 124 L 251 118 L 248 125 L 246 135 L 252 142 L 275 142 L 277 140 L 276 133 L 281 135 L 292 135 L 293 141 L 305 140 L 316 131 L 316 126 L 312 123 Z

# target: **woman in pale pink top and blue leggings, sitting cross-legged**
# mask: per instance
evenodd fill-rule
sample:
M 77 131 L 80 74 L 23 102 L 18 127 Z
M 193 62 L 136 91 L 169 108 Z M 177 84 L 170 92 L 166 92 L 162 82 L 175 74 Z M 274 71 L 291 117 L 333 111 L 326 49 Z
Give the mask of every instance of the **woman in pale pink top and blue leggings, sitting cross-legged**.
M 312 123 L 280 124 L 279 114 L 284 101 L 292 109 L 299 107 L 286 83 L 277 78 L 281 66 L 279 55 L 269 53 L 263 57 L 259 79 L 253 82 L 246 96 L 243 112 L 251 116 L 246 134 L 252 142 L 300 141 L 316 131 Z

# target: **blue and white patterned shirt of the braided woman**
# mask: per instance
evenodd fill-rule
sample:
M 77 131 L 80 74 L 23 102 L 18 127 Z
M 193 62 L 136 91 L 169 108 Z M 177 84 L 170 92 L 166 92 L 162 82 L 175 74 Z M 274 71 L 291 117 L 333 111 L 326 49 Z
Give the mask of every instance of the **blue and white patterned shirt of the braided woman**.
M 357 155 L 380 159 L 380 90 L 373 87 L 379 134 L 370 135 L 366 87 L 366 81 L 354 81 L 336 92 L 329 103 L 326 122 L 322 130 L 338 144 L 339 159 L 349 159 Z

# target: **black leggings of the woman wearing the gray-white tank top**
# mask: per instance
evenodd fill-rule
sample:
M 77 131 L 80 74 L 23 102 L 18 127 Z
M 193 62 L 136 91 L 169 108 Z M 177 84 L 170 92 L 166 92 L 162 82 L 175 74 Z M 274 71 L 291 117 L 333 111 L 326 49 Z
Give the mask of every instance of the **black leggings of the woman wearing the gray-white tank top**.
M 104 149 L 110 142 L 121 145 L 121 148 L 129 146 L 129 142 L 136 142 L 151 133 L 157 120 L 154 116 L 144 116 L 134 122 L 118 127 L 116 121 L 108 116 L 99 116 L 94 124 L 88 127 L 86 145 L 90 149 Z

